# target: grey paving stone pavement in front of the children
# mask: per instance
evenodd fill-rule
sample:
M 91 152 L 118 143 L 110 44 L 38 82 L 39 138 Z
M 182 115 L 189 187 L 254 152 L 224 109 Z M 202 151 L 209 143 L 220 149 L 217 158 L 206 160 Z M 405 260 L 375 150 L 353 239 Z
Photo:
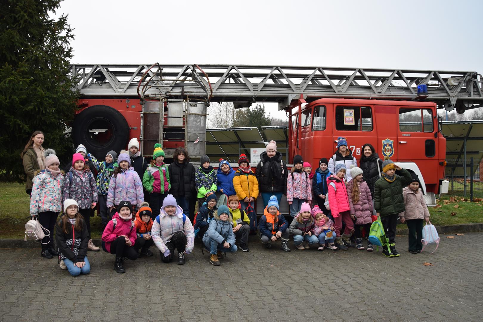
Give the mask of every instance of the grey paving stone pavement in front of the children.
M 184 266 L 156 252 L 125 274 L 88 252 L 79 277 L 38 249 L 0 249 L 0 321 L 483 321 L 483 233 L 446 236 L 432 255 L 398 237 L 399 258 L 252 242 L 217 267 L 198 244 Z

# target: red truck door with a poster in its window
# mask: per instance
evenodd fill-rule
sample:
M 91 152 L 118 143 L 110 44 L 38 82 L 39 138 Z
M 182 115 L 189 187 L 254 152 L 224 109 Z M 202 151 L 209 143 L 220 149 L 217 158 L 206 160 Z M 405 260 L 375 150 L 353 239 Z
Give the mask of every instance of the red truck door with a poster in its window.
M 333 151 L 337 150 L 337 138 L 347 138 L 348 148 L 357 159 L 362 155 L 361 148 L 365 143 L 377 146 L 377 132 L 373 122 L 373 106 L 335 105 Z M 332 152 L 333 152 L 332 151 Z

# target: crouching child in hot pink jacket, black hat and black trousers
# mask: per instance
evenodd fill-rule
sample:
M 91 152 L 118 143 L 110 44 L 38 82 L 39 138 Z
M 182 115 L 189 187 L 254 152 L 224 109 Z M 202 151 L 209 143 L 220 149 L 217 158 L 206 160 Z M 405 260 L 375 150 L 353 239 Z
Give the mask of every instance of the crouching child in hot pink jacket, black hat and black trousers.
M 124 257 L 128 257 L 131 261 L 138 258 L 138 252 L 133 247 L 136 242 L 136 228 L 132 221 L 131 207 L 131 203 L 127 200 L 119 202 L 117 212 L 107 223 L 101 238 L 104 252 L 116 255 L 114 270 L 118 273 L 126 272 Z

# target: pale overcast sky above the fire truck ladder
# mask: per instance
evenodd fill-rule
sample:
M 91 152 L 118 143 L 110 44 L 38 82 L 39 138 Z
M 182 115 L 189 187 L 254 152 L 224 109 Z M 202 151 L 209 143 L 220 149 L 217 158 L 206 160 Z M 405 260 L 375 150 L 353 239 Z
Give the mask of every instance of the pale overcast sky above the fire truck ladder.
M 73 63 L 483 73 L 483 1 L 65 0 Z M 267 104 L 266 104 L 267 105 Z M 268 111 L 277 113 L 277 105 Z

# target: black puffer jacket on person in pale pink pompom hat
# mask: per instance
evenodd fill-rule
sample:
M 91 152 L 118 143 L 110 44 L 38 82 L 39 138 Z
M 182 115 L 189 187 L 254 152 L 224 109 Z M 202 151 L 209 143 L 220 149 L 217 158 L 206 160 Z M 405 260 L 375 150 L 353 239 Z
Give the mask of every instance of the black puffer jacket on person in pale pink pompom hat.
M 260 162 L 256 166 L 256 179 L 260 192 L 286 193 L 287 165 L 282 160 L 282 154 L 277 152 L 274 157 L 269 157 L 267 152 L 260 154 Z

